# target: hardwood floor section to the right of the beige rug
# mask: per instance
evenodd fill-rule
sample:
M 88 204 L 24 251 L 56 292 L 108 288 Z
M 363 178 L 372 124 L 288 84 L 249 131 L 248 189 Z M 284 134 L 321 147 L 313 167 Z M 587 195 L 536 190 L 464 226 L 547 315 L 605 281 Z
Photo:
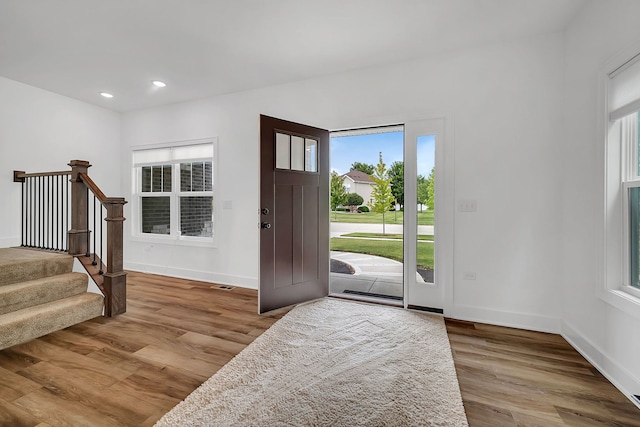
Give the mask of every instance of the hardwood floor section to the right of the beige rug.
M 446 323 L 471 426 L 640 426 L 640 409 L 560 335 Z

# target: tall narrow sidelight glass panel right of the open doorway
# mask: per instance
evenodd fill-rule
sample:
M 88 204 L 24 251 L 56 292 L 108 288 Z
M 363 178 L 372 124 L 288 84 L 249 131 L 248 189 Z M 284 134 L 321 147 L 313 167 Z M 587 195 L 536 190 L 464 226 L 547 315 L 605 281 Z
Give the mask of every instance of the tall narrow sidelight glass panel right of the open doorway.
M 418 155 L 418 241 L 416 245 L 417 284 L 434 283 L 433 245 L 435 227 L 435 135 L 419 136 Z

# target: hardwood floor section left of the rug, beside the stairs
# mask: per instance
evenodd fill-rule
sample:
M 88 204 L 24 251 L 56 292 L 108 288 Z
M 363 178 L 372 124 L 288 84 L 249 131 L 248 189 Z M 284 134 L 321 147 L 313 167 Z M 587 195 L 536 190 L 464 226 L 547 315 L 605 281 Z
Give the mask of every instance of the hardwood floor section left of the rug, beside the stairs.
M 288 310 L 131 272 L 127 313 L 0 351 L 0 426 L 151 426 Z

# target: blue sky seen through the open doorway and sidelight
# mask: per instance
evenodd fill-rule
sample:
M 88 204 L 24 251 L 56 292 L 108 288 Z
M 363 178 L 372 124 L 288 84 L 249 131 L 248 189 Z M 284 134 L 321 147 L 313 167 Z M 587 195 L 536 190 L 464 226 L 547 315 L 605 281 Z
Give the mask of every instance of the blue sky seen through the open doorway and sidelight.
M 378 153 L 387 165 L 402 161 L 403 132 L 387 132 L 372 135 L 342 136 L 331 138 L 331 170 L 340 175 L 349 172 L 353 162 L 378 164 Z M 435 136 L 418 137 L 418 175 L 429 176 L 435 164 Z

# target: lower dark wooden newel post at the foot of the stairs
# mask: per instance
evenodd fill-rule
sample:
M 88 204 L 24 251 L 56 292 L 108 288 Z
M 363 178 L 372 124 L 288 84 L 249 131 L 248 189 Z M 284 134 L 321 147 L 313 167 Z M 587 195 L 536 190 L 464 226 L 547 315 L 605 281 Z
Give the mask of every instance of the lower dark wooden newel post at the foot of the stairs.
M 109 298 L 105 298 L 105 316 L 115 316 L 127 311 L 127 273 L 123 270 L 123 198 L 109 197 L 103 206 L 107 209 L 107 271 L 104 287 Z

